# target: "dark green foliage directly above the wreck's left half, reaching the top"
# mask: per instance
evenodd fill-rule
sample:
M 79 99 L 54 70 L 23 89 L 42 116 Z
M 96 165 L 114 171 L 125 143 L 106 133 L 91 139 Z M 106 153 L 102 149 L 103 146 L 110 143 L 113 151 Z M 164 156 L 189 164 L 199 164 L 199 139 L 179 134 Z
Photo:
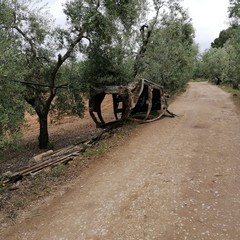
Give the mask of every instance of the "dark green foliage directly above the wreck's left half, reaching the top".
M 91 1 L 90 1 L 91 2 Z M 87 86 L 126 84 L 133 80 L 131 39 L 134 24 L 139 20 L 145 1 L 99 1 L 99 7 L 86 1 L 84 7 L 78 1 L 69 2 L 66 12 L 71 19 L 83 20 L 77 15 L 85 9 L 88 18 L 89 46 L 82 49 L 86 56 L 83 79 Z M 95 11 L 95 12 L 93 12 Z

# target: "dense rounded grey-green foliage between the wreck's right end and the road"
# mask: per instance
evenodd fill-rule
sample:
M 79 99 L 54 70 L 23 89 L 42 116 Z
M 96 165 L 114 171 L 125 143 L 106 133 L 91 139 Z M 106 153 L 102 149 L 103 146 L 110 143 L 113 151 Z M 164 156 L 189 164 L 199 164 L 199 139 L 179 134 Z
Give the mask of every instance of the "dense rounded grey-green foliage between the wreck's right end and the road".
M 165 19 L 152 37 L 143 59 L 142 76 L 168 90 L 177 90 L 190 80 L 197 48 L 192 25 L 182 19 Z

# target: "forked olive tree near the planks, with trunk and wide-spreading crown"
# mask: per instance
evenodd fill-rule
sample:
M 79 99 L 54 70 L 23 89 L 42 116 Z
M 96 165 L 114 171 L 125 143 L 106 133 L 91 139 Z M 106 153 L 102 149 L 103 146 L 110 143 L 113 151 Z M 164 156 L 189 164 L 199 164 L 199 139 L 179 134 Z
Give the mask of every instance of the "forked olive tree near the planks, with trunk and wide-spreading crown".
M 99 44 L 102 46 L 101 51 L 104 52 L 108 45 L 110 52 L 116 51 L 116 56 L 119 44 L 124 43 L 121 35 L 127 35 L 138 16 L 139 6 L 144 2 L 67 1 L 64 6 L 67 25 L 60 28 L 54 27 L 44 8 L 35 7 L 33 1 L 1 0 L 0 14 L 5 16 L 7 13 L 9 16 L 7 21 L 3 18 L 1 27 L 9 36 L 19 41 L 17 51 L 22 56 L 25 70 L 20 82 L 25 86 L 25 100 L 39 118 L 40 148 L 47 148 L 49 145 L 48 114 L 54 99 L 54 106 L 65 100 L 64 104 L 58 105 L 59 109 L 61 107 L 69 111 L 68 107 L 71 107 L 71 112 L 79 115 L 82 113 L 81 89 L 76 89 L 80 84 L 64 78 L 70 63 L 76 60 L 77 53 L 86 54 L 87 47 L 94 49 Z M 116 50 L 112 50 L 114 48 Z M 100 54 L 98 56 L 101 57 Z M 115 62 L 116 68 L 118 62 L 119 60 Z

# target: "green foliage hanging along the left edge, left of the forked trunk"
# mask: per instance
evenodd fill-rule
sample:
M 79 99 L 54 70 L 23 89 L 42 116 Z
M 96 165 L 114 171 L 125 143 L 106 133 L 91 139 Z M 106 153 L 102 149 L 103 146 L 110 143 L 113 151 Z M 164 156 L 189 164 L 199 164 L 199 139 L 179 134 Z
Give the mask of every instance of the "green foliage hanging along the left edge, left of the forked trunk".
M 20 136 L 24 120 L 23 88 L 13 80 L 22 77 L 22 58 L 16 43 L 0 29 L 0 149 Z

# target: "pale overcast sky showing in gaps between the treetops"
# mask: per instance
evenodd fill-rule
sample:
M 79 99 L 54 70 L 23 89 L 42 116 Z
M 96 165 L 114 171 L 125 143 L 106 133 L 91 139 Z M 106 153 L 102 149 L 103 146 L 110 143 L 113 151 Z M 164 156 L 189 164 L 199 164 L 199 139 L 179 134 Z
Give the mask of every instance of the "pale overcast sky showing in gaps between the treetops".
M 44 0 L 56 23 L 64 22 L 62 4 L 66 0 Z M 182 6 L 188 9 L 195 29 L 195 42 L 203 52 L 219 36 L 220 31 L 228 27 L 229 0 L 182 0 Z

